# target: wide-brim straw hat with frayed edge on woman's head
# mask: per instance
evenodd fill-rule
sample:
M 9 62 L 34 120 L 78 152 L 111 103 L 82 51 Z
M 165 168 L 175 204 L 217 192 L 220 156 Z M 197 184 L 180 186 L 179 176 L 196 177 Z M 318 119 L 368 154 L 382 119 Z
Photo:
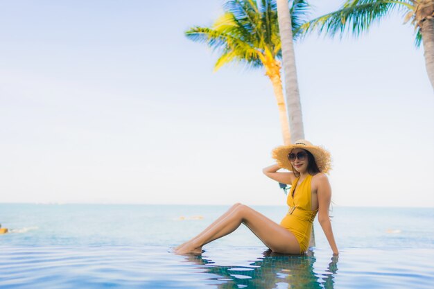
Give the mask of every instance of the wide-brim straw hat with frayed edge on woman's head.
M 287 170 L 294 170 L 293 166 L 288 159 L 288 154 L 294 148 L 302 148 L 311 152 L 315 158 L 315 162 L 322 173 L 327 173 L 331 169 L 331 156 L 330 152 L 321 146 L 313 146 L 310 141 L 306 139 L 299 139 L 295 143 L 287 146 L 278 146 L 272 150 L 272 158 L 277 161 L 277 164 L 281 168 L 286 168 Z

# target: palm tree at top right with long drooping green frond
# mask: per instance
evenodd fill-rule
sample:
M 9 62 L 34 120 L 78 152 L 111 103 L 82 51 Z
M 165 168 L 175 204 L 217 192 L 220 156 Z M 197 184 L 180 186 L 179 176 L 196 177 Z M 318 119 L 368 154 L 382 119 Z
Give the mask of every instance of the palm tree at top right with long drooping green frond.
M 306 35 L 318 29 L 342 37 L 345 30 L 351 30 L 358 36 L 394 10 L 404 12 L 404 23 L 411 20 L 415 26 L 415 45 L 424 44 L 426 71 L 434 88 L 434 0 L 347 0 L 339 10 L 306 22 L 296 33 Z

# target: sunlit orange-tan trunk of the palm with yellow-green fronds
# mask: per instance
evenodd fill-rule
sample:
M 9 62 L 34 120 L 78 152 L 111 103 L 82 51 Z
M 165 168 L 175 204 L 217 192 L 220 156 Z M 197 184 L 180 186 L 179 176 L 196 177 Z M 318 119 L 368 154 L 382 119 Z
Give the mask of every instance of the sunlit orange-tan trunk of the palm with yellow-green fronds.
M 290 144 L 290 131 L 288 126 L 288 114 L 286 114 L 284 89 L 281 85 L 280 64 L 277 60 L 270 60 L 264 64 L 266 67 L 266 75 L 270 78 L 272 89 L 275 92 L 277 101 L 277 109 L 279 110 L 279 121 L 284 144 Z

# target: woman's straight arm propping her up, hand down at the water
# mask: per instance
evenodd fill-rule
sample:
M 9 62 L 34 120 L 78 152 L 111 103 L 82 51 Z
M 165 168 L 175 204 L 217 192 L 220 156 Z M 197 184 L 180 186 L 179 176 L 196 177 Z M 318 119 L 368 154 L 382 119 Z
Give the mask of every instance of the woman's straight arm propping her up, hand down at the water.
M 317 194 L 318 194 L 318 222 L 322 227 L 322 231 L 329 241 L 333 254 L 339 254 L 338 246 L 336 246 L 333 231 L 331 230 L 331 222 L 329 216 L 329 207 L 331 201 L 331 187 L 327 175 L 318 174 L 317 179 Z

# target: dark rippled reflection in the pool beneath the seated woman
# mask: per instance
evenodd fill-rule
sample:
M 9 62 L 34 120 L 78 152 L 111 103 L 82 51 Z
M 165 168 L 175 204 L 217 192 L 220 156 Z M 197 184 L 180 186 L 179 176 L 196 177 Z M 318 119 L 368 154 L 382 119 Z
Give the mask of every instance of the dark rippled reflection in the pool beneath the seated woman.
M 206 256 L 190 256 L 189 261 L 201 265 L 201 272 L 216 274 L 221 281 L 217 288 L 326 288 L 332 289 L 338 271 L 338 257 L 333 256 L 328 268 L 315 273 L 313 252 L 302 256 L 276 254 L 267 250 L 249 266 L 215 265 Z M 318 271 L 318 270 L 317 270 Z M 213 283 L 215 285 L 215 283 Z

